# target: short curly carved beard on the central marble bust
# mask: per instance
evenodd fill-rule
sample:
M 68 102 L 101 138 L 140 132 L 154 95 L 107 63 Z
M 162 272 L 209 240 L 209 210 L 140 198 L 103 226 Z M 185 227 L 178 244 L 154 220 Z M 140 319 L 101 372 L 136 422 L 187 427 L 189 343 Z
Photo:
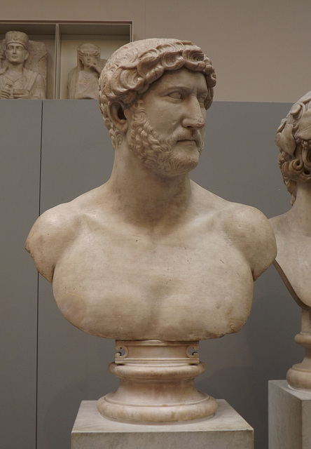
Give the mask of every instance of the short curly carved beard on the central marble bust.
M 195 140 L 195 149 L 192 145 L 186 152 L 175 149 L 178 140 L 189 138 Z M 184 134 L 179 132 L 170 138 L 162 138 L 149 123 L 143 107 L 132 115 L 132 127 L 126 139 L 130 150 L 144 166 L 164 176 L 183 175 L 193 170 L 203 148 L 198 130 L 186 130 Z

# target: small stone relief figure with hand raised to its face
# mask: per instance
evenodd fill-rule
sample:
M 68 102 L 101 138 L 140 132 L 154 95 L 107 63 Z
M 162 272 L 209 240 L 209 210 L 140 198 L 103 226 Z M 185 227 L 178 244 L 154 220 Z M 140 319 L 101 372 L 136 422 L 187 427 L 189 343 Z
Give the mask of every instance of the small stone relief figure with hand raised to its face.
M 69 100 L 98 100 L 98 79 L 106 63 L 100 59 L 100 48 L 93 43 L 83 43 L 77 48 L 77 59 L 77 66 L 68 76 Z

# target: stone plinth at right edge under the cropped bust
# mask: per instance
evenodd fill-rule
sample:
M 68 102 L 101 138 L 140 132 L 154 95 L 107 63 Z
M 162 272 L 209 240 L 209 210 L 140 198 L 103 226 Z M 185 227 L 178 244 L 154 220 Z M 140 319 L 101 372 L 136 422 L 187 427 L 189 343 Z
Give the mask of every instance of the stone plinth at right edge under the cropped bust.
M 269 449 L 311 449 L 311 392 L 269 382 Z

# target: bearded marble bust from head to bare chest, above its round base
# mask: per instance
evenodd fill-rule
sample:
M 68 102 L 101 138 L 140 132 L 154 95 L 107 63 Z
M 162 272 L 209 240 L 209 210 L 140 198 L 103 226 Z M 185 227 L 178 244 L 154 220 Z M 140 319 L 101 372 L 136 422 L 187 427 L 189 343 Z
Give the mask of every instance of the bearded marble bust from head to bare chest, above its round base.
M 260 211 L 190 180 L 215 84 L 209 58 L 189 41 L 136 41 L 106 63 L 99 105 L 115 151 L 111 177 L 43 213 L 26 243 L 81 330 L 175 347 L 247 321 L 275 237 Z

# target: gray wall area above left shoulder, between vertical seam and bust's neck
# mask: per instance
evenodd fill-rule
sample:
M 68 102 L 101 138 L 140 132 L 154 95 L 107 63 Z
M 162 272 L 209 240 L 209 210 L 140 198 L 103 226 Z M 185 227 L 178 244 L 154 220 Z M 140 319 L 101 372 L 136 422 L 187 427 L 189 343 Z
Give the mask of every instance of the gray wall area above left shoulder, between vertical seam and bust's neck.
M 43 102 L 41 213 L 103 184 L 112 164 L 97 101 Z

